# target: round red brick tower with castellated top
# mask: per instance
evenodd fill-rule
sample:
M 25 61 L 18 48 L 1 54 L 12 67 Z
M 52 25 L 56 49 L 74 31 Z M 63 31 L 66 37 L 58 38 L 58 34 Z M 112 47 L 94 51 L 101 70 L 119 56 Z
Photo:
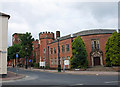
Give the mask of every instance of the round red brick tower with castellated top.
M 53 42 L 54 33 L 53 32 L 40 32 L 40 62 L 45 62 L 46 66 L 49 66 L 49 46 L 48 44 Z

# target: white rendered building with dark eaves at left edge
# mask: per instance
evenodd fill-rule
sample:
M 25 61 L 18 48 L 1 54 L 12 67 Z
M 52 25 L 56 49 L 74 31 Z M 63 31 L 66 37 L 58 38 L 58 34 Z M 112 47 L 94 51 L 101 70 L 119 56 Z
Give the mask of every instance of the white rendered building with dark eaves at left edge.
M 0 12 L 0 75 L 7 75 L 8 19 L 9 15 Z

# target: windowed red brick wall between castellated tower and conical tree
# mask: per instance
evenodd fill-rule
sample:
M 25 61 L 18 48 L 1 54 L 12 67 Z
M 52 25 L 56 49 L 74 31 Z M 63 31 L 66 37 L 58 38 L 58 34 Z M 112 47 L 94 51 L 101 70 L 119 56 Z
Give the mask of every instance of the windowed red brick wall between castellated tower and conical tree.
M 66 44 L 69 44 L 69 51 L 66 51 Z M 65 51 L 62 53 L 62 45 L 64 45 Z M 72 56 L 72 38 L 65 39 L 59 41 L 59 46 L 60 46 L 60 59 L 61 59 L 61 68 L 63 68 L 63 57 L 65 60 L 67 60 L 67 56 L 71 57 Z M 53 65 L 51 65 L 51 61 L 49 60 L 50 68 L 57 68 L 58 67 L 58 42 L 54 42 L 48 45 L 49 46 L 49 59 L 53 59 Z M 54 47 L 56 47 L 56 54 L 54 53 Z M 53 53 L 51 54 L 50 49 L 53 49 Z M 55 65 L 55 58 L 57 58 L 57 65 Z M 68 66 L 65 66 L 68 68 Z

